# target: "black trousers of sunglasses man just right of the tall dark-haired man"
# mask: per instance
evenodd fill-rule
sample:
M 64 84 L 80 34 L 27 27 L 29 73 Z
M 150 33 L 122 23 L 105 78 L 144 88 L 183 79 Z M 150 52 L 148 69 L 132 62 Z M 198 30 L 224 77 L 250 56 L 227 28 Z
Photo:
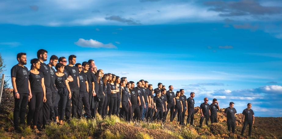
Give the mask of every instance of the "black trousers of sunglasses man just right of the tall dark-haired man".
M 90 113 L 90 106 L 89 106 L 89 94 L 88 92 L 79 92 L 79 99 L 78 99 L 78 118 L 81 118 L 82 115 L 82 110 L 83 110 L 83 105 L 84 105 L 84 110 L 87 118 L 91 117 Z

